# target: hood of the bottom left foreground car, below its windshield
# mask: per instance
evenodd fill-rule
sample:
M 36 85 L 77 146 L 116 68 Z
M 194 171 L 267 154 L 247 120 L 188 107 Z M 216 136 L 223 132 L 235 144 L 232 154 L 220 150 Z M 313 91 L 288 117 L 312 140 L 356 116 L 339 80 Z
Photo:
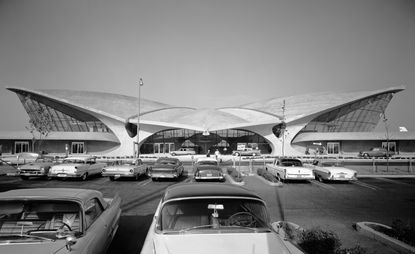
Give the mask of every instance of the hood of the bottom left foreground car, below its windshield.
M 22 243 L 0 243 L 0 253 L 7 254 L 21 254 L 21 253 L 32 253 L 32 254 L 43 254 L 43 253 L 67 253 L 65 246 L 65 240 L 58 240 L 55 242 L 44 241 L 44 242 L 22 242 Z M 71 252 L 72 253 L 72 252 Z M 73 252 L 76 253 L 76 252 Z

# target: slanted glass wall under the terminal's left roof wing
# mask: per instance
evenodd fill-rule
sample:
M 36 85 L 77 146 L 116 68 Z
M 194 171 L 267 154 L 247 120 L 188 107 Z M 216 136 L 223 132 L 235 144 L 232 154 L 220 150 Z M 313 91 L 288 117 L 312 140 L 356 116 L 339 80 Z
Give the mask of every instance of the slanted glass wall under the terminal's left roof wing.
M 64 112 L 67 107 L 62 106 L 63 110 L 61 110 L 56 105 L 51 107 L 46 105 L 45 102 L 40 102 L 29 96 L 19 97 L 30 119 L 40 119 L 39 114 L 46 114 L 46 117 L 43 117 L 43 119 L 50 119 L 51 131 L 111 133 L 111 130 L 101 121 L 74 108 Z

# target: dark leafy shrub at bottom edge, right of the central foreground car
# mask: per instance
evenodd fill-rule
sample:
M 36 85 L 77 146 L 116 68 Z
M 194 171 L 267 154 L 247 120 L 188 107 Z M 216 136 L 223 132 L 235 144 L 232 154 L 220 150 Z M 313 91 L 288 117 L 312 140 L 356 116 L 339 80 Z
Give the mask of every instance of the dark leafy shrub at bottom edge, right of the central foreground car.
M 340 239 L 320 228 L 307 229 L 300 234 L 298 245 L 308 254 L 333 254 L 340 251 Z

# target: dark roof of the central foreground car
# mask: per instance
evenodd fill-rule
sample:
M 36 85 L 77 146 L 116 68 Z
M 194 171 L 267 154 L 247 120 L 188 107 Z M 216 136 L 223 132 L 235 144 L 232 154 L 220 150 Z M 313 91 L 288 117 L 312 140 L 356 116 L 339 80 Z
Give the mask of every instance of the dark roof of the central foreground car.
M 193 198 L 193 197 L 244 197 L 244 198 L 262 198 L 254 192 L 240 186 L 223 184 L 223 183 L 182 183 L 170 186 L 164 193 L 163 200 L 171 200 L 177 198 Z

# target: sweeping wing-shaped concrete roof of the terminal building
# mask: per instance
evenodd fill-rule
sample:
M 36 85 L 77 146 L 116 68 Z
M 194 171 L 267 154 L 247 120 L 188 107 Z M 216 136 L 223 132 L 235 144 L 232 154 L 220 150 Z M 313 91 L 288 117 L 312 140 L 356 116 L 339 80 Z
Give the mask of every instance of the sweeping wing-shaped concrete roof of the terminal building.
M 66 105 L 106 115 L 119 121 L 136 123 L 138 99 L 136 97 L 91 91 L 72 90 L 31 90 L 8 88 L 18 94 L 43 96 Z M 321 92 L 288 97 L 273 98 L 266 101 L 249 103 L 238 107 L 217 109 L 195 109 L 177 107 L 156 101 L 141 99 L 142 124 L 166 126 L 194 126 L 197 130 L 221 130 L 243 128 L 259 124 L 279 123 L 282 119 L 282 105 L 285 100 L 287 122 L 327 111 L 341 105 L 383 93 L 396 93 L 404 87 L 392 87 L 375 91 L 360 92 Z M 135 122 L 134 122 L 135 121 Z

